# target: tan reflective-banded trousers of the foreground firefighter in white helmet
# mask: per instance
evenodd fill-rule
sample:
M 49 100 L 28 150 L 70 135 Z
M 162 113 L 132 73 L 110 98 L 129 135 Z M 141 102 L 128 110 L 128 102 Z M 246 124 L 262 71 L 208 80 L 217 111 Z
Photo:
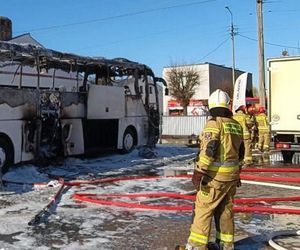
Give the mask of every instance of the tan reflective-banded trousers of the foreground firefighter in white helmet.
M 233 249 L 234 218 L 233 198 L 238 181 L 218 182 L 211 180 L 201 184 L 197 193 L 194 219 L 188 242 L 199 250 L 207 250 L 212 218 L 216 224 L 216 241 L 224 250 Z

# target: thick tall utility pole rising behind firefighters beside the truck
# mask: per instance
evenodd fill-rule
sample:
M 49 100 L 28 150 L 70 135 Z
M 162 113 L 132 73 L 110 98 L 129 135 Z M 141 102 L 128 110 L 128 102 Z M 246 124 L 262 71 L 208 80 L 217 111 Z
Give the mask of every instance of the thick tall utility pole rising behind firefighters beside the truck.
M 264 53 L 262 4 L 263 4 L 263 0 L 256 0 L 257 32 L 258 32 L 259 103 L 262 107 L 265 108 L 266 106 L 265 53 Z

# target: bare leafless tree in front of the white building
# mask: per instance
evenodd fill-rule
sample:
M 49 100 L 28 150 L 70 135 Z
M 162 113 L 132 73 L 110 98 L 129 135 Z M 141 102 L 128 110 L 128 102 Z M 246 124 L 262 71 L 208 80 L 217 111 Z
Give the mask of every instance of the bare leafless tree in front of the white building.
M 199 73 L 192 66 L 171 66 L 167 72 L 170 95 L 183 107 L 187 115 L 190 99 L 195 94 L 195 87 L 200 84 Z

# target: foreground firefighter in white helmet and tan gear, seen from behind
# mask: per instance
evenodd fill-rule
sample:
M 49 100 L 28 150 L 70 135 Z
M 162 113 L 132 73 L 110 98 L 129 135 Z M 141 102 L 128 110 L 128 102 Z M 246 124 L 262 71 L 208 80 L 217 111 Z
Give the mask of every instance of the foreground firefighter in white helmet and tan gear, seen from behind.
M 200 152 L 192 182 L 197 190 L 193 223 L 187 245 L 178 250 L 208 249 L 211 221 L 216 224 L 216 244 L 233 249 L 233 198 L 240 184 L 243 129 L 232 119 L 228 94 L 217 89 L 209 97 L 209 119 L 201 134 Z

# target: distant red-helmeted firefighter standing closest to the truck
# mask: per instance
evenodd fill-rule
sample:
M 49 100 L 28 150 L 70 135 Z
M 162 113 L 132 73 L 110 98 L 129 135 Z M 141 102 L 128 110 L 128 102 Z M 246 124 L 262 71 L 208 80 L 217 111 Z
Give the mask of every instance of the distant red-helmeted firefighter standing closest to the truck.
M 266 110 L 264 107 L 259 107 L 258 115 L 256 116 L 258 124 L 258 150 L 263 153 L 263 162 L 267 162 L 270 150 L 270 128 Z

